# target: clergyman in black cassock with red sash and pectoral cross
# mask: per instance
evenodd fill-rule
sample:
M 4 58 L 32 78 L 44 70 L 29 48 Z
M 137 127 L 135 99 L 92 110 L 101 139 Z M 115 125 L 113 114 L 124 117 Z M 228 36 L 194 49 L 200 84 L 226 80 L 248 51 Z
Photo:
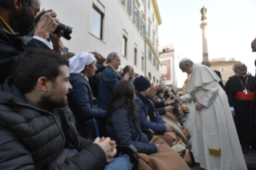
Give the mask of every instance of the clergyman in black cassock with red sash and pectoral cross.
M 246 65 L 240 63 L 236 67 L 237 75 L 230 77 L 224 90 L 228 96 L 230 109 L 234 111 L 234 123 L 242 151 L 248 152 L 249 147 L 256 148 L 255 133 L 255 78 L 246 75 Z

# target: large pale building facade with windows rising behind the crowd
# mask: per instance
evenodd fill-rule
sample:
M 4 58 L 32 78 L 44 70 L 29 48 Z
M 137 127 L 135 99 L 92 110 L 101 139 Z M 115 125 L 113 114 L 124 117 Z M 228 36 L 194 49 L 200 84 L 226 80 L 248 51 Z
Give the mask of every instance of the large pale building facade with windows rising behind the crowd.
M 43 0 L 41 8 L 54 10 L 60 22 L 74 28 L 71 40 L 63 39 L 69 52 L 107 58 L 115 51 L 120 70 L 130 65 L 137 74 L 159 82 L 161 16 L 156 0 Z

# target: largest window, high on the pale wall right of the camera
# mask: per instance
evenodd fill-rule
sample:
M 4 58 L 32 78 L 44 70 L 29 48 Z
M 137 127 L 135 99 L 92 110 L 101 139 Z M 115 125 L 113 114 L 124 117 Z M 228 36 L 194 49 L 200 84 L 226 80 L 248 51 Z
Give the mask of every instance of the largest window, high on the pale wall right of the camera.
M 104 23 L 104 13 L 93 4 L 92 8 L 92 20 L 91 20 L 91 34 L 95 37 L 103 38 L 103 23 Z

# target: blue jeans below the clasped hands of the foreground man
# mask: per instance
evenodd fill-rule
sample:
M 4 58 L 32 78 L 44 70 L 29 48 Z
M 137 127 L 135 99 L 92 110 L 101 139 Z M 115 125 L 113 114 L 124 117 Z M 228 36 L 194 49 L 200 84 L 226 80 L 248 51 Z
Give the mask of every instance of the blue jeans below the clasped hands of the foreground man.
M 104 170 L 132 170 L 129 156 L 115 157 L 111 163 L 105 166 Z

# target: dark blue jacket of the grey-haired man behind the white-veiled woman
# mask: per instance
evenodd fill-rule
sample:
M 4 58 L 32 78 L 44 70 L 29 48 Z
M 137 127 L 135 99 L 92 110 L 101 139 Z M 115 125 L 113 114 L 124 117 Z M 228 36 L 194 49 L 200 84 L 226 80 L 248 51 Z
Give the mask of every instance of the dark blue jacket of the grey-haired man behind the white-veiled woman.
M 100 75 L 98 107 L 107 110 L 112 89 L 120 81 L 120 76 L 110 66 L 106 67 Z

